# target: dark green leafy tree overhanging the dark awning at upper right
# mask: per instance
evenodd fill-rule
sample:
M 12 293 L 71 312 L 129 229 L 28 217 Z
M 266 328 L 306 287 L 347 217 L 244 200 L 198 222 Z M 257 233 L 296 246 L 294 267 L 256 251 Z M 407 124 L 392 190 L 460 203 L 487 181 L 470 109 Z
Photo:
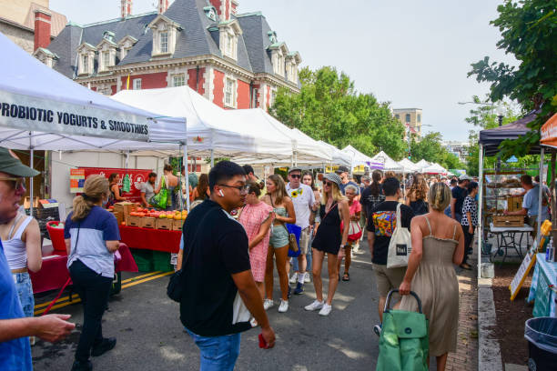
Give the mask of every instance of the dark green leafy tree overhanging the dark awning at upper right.
M 489 56 L 472 64 L 469 76 L 491 83 L 491 102 L 509 98 L 525 112 L 540 110 L 529 126 L 532 132 L 501 144 L 501 157 L 526 155 L 540 141 L 542 124 L 557 107 L 557 0 L 506 0 L 499 5 L 499 17 L 491 25 L 499 27 L 497 47 L 514 55 L 519 66 L 491 62 Z

